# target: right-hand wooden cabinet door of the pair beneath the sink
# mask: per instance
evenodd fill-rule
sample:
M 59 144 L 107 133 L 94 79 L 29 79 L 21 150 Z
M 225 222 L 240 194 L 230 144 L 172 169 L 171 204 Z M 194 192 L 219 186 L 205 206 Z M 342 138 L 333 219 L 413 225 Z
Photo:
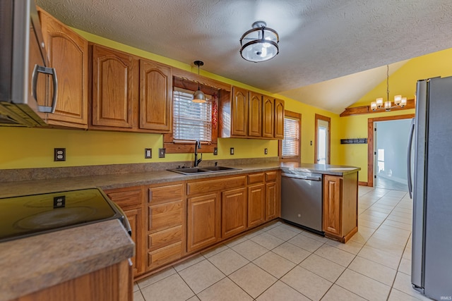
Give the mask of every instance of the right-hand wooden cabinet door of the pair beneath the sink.
M 221 194 L 221 238 L 229 238 L 246 230 L 246 188 L 227 190 Z

